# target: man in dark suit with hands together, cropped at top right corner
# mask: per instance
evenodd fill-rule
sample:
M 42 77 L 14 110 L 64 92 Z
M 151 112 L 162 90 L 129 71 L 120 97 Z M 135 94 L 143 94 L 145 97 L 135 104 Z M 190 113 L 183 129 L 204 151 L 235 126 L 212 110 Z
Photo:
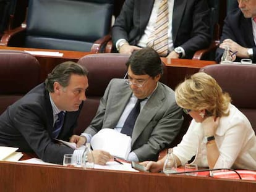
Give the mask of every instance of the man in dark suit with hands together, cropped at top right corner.
M 233 60 L 240 61 L 250 58 L 256 62 L 256 1 L 239 0 L 239 9 L 226 16 L 221 35 L 220 48 L 216 50 L 216 62 L 220 62 L 226 46 L 231 52 L 236 52 Z

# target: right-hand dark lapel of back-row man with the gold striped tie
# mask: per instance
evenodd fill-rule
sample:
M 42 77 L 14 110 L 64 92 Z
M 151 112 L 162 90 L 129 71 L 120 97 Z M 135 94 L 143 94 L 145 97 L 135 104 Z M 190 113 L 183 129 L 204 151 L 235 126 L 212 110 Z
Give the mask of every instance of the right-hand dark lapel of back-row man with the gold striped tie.
M 184 14 L 185 7 L 187 6 L 187 1 L 175 1 L 173 6 L 173 21 L 172 21 L 172 31 L 173 31 L 173 42 L 176 41 L 177 32 L 179 31 L 179 26 L 181 25 L 182 15 Z

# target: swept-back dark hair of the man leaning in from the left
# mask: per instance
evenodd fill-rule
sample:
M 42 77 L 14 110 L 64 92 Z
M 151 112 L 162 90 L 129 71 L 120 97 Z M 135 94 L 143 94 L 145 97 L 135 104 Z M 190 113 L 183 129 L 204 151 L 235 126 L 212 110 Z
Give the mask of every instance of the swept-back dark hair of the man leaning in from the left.
M 45 88 L 50 93 L 54 92 L 53 84 L 58 82 L 61 86 L 66 87 L 69 85 L 69 79 L 72 74 L 87 76 L 87 69 L 73 61 L 62 62 L 54 67 L 53 71 L 48 74 L 45 80 Z

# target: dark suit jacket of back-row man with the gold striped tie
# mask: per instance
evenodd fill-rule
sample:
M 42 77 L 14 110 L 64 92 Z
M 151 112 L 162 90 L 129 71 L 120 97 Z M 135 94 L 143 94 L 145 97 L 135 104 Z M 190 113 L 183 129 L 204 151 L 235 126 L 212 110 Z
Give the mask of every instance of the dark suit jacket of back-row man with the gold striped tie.
M 116 41 L 124 38 L 136 45 L 147 27 L 154 0 L 126 0 L 120 15 L 113 25 L 112 37 Z M 206 0 L 175 0 L 173 8 L 174 48 L 181 46 L 186 58 L 191 58 L 198 49 L 210 44 L 210 10 Z

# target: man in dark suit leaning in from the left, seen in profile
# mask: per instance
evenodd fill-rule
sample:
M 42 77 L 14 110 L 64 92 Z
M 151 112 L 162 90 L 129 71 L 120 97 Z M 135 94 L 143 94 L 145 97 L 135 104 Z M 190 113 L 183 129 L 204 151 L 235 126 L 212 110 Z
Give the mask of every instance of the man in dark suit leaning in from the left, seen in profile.
M 77 126 L 87 88 L 87 70 L 75 62 L 57 65 L 45 83 L 33 88 L 2 113 L 0 146 L 35 152 L 45 162 L 62 164 L 64 154 L 73 153 L 74 149 L 54 139 L 69 141 Z

